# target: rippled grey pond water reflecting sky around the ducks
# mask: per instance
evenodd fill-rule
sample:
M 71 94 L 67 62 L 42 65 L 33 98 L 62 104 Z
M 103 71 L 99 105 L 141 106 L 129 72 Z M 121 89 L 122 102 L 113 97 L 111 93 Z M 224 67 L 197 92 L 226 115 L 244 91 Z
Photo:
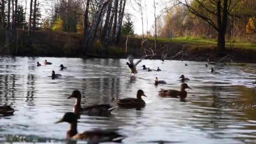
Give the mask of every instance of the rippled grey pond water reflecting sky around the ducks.
M 53 64 L 36 66 L 45 59 Z M 15 109 L 13 116 L 0 117 L 0 143 L 66 143 L 69 124 L 54 122 L 72 111 L 75 99 L 66 97 L 75 89 L 83 95 L 82 106 L 115 104 L 116 99 L 135 97 L 138 89 L 148 96 L 143 97 L 147 106 L 141 110 L 116 108 L 112 117 L 82 115 L 78 132 L 120 128 L 127 136 L 124 144 L 256 143 L 256 85 L 251 85 L 256 80 L 255 64 L 205 67 L 206 62 L 142 60 L 138 66 L 162 71 L 137 67 L 139 73 L 132 77 L 126 62 L 0 56 L 0 105 Z M 67 69 L 61 70 L 60 64 Z M 211 67 L 220 74 L 211 73 Z M 52 70 L 62 77 L 47 77 Z M 190 79 L 187 101 L 158 96 L 160 88 L 179 90 L 181 74 Z M 168 84 L 155 86 L 156 76 Z

